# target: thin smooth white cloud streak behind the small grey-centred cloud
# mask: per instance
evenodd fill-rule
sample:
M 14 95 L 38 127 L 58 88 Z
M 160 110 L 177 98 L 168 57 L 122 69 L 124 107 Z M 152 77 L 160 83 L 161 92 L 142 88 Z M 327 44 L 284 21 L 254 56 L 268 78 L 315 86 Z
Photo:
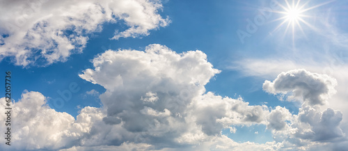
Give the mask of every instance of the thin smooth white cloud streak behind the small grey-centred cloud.
M 331 54 L 330 54 L 331 55 Z M 342 111 L 344 115 L 348 114 L 348 65 L 345 64 L 343 56 L 331 58 L 327 61 L 320 63 L 315 62 L 302 62 L 301 61 L 290 61 L 288 59 L 275 59 L 267 58 L 264 60 L 260 59 L 247 59 L 237 63 L 235 67 L 231 67 L 243 72 L 246 76 L 262 77 L 264 79 L 275 79 L 280 72 L 306 69 L 309 72 L 315 72 L 318 74 L 327 74 L 329 77 L 336 79 L 338 85 L 335 86 L 337 93 L 332 95 L 332 99 L 329 104 L 326 104 L 332 109 L 338 109 Z M 343 62 L 342 62 L 343 61 Z M 247 62 L 247 63 L 245 63 Z M 342 64 L 343 63 L 343 64 Z M 278 94 L 279 95 L 279 94 Z M 348 122 L 348 118 L 343 116 L 343 122 Z

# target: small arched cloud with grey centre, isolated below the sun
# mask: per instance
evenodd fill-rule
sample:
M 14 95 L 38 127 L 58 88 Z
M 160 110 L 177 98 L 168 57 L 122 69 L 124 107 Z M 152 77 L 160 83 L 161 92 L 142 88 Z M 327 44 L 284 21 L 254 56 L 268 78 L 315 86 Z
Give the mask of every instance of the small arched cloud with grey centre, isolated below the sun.
M 309 105 L 324 105 L 335 91 L 337 81 L 326 74 L 306 70 L 282 72 L 274 81 L 264 81 L 262 88 L 267 93 L 292 93 L 290 100 L 301 100 Z

